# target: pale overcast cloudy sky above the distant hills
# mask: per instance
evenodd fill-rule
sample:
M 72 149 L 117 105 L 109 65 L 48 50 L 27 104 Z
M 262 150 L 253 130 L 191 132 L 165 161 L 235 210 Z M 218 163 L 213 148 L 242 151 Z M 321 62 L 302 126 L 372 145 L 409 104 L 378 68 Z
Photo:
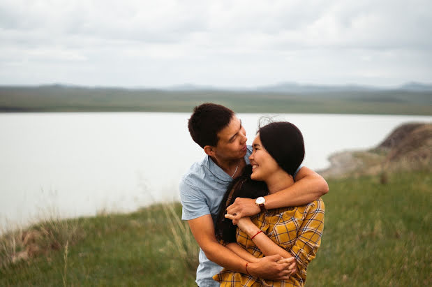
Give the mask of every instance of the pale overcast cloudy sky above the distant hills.
M 0 84 L 432 82 L 432 1 L 0 0 Z

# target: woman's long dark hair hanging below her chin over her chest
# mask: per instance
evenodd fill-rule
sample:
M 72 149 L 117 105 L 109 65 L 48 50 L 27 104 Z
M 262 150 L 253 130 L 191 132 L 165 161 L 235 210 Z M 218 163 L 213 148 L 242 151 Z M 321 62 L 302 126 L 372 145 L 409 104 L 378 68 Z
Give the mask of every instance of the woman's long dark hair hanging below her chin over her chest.
M 252 165 L 246 165 L 243 174 L 232 180 L 230 186 L 228 186 L 216 218 L 215 234 L 217 240 L 223 240 L 225 243 L 236 242 L 237 226 L 234 226 L 230 219 L 225 219 L 227 207 L 234 203 L 236 198 L 258 198 L 267 196 L 269 193 L 267 184 L 252 180 L 251 173 Z

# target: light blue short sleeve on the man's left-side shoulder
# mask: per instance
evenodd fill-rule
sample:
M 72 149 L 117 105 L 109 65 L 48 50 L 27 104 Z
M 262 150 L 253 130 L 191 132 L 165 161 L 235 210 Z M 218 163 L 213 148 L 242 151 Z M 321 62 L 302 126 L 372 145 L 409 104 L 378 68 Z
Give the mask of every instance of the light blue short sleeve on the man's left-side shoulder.
M 201 191 L 182 179 L 179 184 L 180 200 L 182 205 L 181 219 L 191 220 L 210 214 L 209 206 Z

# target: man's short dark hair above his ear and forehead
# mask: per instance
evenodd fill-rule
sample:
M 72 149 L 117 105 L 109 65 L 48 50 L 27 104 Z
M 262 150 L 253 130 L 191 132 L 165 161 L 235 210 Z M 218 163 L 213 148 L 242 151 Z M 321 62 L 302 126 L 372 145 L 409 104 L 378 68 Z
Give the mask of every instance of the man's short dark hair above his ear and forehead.
M 230 124 L 234 112 L 223 105 L 203 103 L 193 109 L 188 121 L 189 133 L 194 142 L 204 148 L 218 145 L 218 132 Z

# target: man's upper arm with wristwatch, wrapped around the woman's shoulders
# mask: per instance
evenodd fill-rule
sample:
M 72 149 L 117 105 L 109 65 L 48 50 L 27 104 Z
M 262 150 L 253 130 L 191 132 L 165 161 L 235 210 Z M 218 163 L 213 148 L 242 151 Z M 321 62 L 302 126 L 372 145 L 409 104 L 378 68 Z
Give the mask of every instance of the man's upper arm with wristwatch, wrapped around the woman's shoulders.
M 329 192 L 329 186 L 324 178 L 313 170 L 302 167 L 295 176 L 295 183 L 288 189 L 265 196 L 265 208 L 306 205 Z M 232 223 L 237 224 L 241 217 L 260 213 L 260 207 L 255 205 L 255 199 L 236 198 L 227 208 L 227 213 L 234 215 Z

